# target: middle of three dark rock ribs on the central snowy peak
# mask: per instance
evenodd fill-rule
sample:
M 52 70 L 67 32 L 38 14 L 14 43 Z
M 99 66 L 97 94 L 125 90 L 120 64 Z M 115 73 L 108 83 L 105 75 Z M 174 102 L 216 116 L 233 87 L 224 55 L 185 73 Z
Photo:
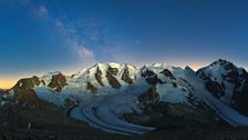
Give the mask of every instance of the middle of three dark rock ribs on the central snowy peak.
M 114 77 L 117 76 L 117 72 L 118 72 L 117 68 L 111 68 L 111 67 L 108 67 L 106 71 L 107 81 L 110 86 L 114 89 L 120 89 L 122 87 L 121 83 L 117 81 L 117 79 Z

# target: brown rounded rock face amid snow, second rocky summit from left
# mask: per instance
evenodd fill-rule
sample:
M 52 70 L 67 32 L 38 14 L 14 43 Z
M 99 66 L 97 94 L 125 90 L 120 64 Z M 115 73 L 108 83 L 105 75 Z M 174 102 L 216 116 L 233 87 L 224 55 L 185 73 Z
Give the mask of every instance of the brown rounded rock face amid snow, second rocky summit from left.
M 61 92 L 64 86 L 66 86 L 66 79 L 62 73 L 52 76 L 51 82 L 48 87 L 52 88 L 56 92 Z

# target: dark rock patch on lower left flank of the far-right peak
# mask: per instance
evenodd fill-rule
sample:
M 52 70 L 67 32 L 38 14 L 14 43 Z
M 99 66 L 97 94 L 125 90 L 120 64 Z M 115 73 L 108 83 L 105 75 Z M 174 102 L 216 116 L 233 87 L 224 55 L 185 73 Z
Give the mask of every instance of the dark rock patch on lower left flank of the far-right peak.
M 206 82 L 205 88 L 218 99 L 225 94 L 225 89 L 218 82 L 210 79 Z

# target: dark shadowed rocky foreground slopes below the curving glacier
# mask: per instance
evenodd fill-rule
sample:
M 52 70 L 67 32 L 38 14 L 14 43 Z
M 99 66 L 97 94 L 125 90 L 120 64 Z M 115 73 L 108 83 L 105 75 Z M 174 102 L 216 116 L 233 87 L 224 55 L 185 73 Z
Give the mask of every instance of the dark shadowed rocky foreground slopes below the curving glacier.
M 185 138 L 190 140 L 247 140 L 248 138 L 246 127 L 232 128 L 221 122 L 206 126 L 203 122 L 189 121 L 182 116 L 169 117 L 168 114 L 159 120 L 154 119 L 151 123 L 155 123 L 157 130 L 143 136 L 125 137 L 102 132 L 82 121 L 65 117 L 62 113 L 63 109 L 50 103 L 41 107 L 39 111 L 6 106 L 0 108 L 0 112 L 1 140 L 185 140 Z M 144 116 L 149 116 L 147 113 Z M 138 118 L 144 117 L 138 116 Z M 147 122 L 138 123 L 146 124 Z

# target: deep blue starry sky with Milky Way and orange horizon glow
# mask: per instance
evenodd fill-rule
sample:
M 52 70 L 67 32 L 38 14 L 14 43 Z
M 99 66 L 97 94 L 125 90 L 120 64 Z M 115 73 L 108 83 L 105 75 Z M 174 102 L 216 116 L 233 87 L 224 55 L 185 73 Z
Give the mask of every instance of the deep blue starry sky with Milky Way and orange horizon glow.
M 0 0 L 0 88 L 96 62 L 247 68 L 247 0 Z

